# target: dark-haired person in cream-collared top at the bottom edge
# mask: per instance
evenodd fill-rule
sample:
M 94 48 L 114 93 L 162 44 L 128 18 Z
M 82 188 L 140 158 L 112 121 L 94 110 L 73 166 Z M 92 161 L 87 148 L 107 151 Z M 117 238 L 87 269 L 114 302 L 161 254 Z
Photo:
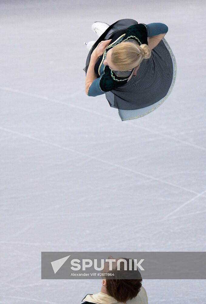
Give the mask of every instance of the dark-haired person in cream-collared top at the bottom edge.
M 109 258 L 113 259 L 112 256 Z M 114 274 L 114 277 L 103 277 L 102 288 L 99 293 L 87 294 L 82 301 L 83 304 L 148 304 L 147 293 L 142 286 L 142 278 L 138 270 L 134 270 L 134 261 L 132 260 L 133 270 L 124 270 L 124 263 L 120 262 L 120 270 L 117 270 L 118 260 L 112 264 L 112 270 L 109 271 L 109 262 L 105 262 L 103 273 Z M 129 269 L 129 259 L 127 269 Z

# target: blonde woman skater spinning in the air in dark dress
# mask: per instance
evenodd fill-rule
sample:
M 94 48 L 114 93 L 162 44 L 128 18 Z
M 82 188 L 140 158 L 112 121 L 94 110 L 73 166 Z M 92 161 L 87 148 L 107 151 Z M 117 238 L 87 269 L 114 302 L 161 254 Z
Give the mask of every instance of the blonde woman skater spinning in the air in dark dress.
M 94 22 L 96 41 L 87 43 L 85 92 L 105 94 L 122 121 L 149 114 L 169 96 L 176 79 L 176 60 L 164 36 L 164 23 L 120 19 Z

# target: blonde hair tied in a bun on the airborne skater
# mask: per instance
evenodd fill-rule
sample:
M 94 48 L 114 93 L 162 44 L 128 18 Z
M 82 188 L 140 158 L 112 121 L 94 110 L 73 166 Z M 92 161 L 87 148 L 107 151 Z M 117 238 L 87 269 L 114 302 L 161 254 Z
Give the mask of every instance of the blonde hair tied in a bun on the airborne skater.
M 118 43 L 112 48 L 111 61 L 119 71 L 128 71 L 150 56 L 151 50 L 147 44 L 139 46 L 137 43 L 126 41 L 126 43 Z

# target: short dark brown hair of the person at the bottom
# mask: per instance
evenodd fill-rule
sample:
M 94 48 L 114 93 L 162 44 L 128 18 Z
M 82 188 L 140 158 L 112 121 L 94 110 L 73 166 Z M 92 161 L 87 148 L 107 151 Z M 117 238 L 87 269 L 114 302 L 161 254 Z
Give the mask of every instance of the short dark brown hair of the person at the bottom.
M 127 261 L 127 267 L 129 267 L 129 259 L 124 259 Z M 134 261 L 132 261 L 132 267 L 134 268 Z M 106 279 L 106 290 L 117 302 L 126 303 L 128 300 L 135 298 L 140 292 L 142 278 L 138 270 L 136 270 L 136 273 L 132 271 L 132 275 L 131 270 L 124 271 L 124 273 L 123 271 L 123 262 L 120 262 L 120 271 L 117 272 L 117 267 L 110 271 L 114 273 L 115 278 Z M 127 276 L 129 279 L 126 279 Z M 130 279 L 131 277 L 135 277 L 136 279 Z

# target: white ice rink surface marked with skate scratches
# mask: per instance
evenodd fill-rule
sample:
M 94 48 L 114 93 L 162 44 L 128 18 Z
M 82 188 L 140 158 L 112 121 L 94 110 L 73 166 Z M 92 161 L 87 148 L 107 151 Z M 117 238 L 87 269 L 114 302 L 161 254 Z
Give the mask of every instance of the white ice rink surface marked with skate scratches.
M 205 1 L 1 0 L 4 304 L 80 304 L 101 280 L 41 280 L 41 251 L 205 251 Z M 95 21 L 163 22 L 167 100 L 122 122 L 85 93 Z M 205 280 L 145 280 L 150 304 L 203 304 Z

